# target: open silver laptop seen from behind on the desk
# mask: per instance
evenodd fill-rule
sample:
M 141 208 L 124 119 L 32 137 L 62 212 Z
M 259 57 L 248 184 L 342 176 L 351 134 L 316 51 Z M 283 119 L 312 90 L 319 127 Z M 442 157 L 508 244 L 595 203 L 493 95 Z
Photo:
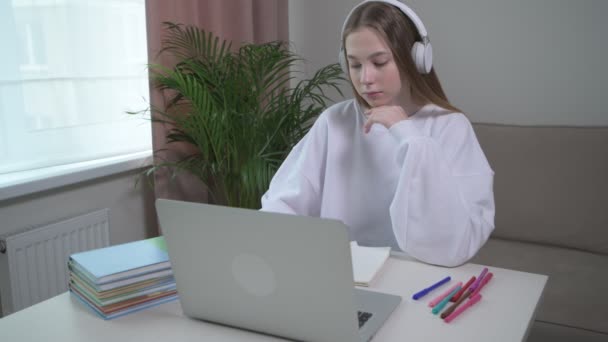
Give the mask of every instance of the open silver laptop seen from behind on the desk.
M 184 314 L 305 341 L 369 341 L 401 297 L 354 287 L 336 220 L 159 199 Z

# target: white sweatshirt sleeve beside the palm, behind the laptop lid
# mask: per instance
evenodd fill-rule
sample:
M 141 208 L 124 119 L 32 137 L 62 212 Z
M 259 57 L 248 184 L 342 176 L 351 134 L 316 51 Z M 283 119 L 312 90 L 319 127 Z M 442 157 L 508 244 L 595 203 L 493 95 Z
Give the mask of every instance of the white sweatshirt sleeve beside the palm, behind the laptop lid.
M 327 156 L 327 119 L 319 116 L 291 150 L 262 196 L 262 211 L 302 216 L 321 212 L 323 170 Z

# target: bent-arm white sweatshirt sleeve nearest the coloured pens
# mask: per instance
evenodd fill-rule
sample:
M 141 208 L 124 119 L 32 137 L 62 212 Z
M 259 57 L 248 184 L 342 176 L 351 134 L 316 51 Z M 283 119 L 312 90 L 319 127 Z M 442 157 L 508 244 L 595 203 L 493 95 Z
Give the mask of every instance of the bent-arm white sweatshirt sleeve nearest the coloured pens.
M 401 165 L 390 206 L 393 232 L 409 255 L 457 266 L 472 258 L 494 229 L 494 172 L 468 119 L 448 114 L 435 137 L 411 120 L 390 128 Z

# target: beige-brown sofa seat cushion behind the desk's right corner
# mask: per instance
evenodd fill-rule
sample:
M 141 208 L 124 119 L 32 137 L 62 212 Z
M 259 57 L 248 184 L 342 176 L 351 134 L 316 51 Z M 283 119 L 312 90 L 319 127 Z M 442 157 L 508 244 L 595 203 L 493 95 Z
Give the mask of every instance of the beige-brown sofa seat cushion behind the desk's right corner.
M 608 333 L 608 257 L 491 238 L 472 262 L 548 275 L 537 320 Z

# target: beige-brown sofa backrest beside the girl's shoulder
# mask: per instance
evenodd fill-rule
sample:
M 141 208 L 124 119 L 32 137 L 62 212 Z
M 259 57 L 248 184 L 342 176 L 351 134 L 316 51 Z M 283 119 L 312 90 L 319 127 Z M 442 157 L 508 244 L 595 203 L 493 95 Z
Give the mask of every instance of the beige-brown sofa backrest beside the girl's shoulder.
M 474 126 L 496 173 L 493 236 L 608 254 L 608 128 Z

